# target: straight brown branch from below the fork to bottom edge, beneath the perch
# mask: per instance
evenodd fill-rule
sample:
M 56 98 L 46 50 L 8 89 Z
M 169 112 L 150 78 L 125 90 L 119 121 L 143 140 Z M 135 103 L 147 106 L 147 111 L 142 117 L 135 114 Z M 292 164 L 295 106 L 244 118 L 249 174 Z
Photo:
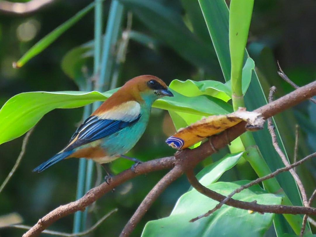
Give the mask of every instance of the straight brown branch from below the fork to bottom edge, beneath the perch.
M 157 197 L 169 186 L 174 180 L 178 179 L 183 174 L 182 170 L 176 166 L 169 171 L 160 181 L 150 190 L 143 202 L 138 206 L 134 215 L 126 223 L 122 230 L 120 237 L 129 236 L 136 227 L 137 223 L 141 220 L 143 215 L 148 211 Z

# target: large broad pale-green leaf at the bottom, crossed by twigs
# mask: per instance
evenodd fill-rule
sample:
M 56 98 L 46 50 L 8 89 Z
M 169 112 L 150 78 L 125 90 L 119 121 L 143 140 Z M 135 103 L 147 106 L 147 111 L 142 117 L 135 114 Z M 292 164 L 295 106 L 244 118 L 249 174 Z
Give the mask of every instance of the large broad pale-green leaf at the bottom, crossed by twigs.
M 249 181 L 236 183 L 217 182 L 207 185 L 208 188 L 228 195 L 240 185 Z M 250 187 L 234 195 L 235 199 L 259 204 L 281 204 L 281 197 L 266 193 L 259 185 Z M 189 222 L 194 217 L 204 214 L 214 208 L 217 201 L 204 196 L 196 190 L 183 194 L 175 205 L 170 216 L 155 221 L 147 222 L 142 237 L 149 236 L 243 236 L 259 237 L 270 227 L 274 214 L 259 213 L 249 214 L 247 210 L 241 210 L 224 205 L 212 215 L 204 217 L 196 222 Z

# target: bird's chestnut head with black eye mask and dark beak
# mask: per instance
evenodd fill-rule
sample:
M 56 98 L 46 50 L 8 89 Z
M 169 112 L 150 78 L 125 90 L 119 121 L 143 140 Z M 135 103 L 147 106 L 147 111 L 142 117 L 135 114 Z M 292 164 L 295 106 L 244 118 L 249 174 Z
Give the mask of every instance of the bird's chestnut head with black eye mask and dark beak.
M 137 100 L 153 103 L 162 96 L 173 96 L 165 82 L 151 75 L 137 76 L 123 86 L 129 88 Z

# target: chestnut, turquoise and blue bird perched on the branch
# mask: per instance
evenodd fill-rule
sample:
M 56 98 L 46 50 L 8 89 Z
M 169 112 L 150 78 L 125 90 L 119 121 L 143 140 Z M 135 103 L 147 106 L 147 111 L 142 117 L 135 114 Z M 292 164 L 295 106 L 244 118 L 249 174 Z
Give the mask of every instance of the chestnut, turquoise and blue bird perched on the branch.
M 160 78 L 152 75 L 132 78 L 77 128 L 64 149 L 40 164 L 33 172 L 42 172 L 67 158 L 92 159 L 100 163 L 107 174 L 110 171 L 105 164 L 119 157 L 136 162 L 134 165 L 141 163 L 125 153 L 142 137 L 152 104 L 163 96 L 173 94 Z

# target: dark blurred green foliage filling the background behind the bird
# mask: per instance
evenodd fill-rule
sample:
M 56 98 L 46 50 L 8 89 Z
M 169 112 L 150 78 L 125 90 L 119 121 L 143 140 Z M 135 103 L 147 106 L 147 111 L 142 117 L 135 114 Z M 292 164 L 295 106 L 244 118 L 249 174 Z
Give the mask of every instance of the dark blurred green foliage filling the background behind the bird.
M 122 0 L 122 3 L 125 3 L 127 8 L 130 7 L 134 13 L 132 29 L 143 34 L 143 37 L 140 37 L 142 40 L 136 37 L 136 40 L 133 38 L 130 40 L 126 59 L 118 65 L 118 85 L 142 74 L 158 76 L 167 84 L 173 79 L 182 81 L 212 79 L 223 82 L 221 69 L 198 4 L 190 4 L 185 0 L 147 1 L 161 9 L 160 14 L 157 15 L 153 11 L 150 3 L 147 7 L 135 9 L 135 5 L 131 5 L 132 1 Z M 142 1 L 135 2 L 140 4 Z M 68 76 L 79 75 L 82 78 L 91 76 L 92 58 L 89 55 L 86 55 L 85 60 L 79 60 L 80 66 L 76 70 L 66 72 L 68 76 L 61 67 L 62 62 L 63 65 L 66 63 L 63 58 L 68 52 L 93 40 L 94 17 L 91 12 L 22 68 L 18 70 L 12 68 L 13 61 L 21 58 L 38 40 L 89 3 L 83 0 L 58 1 L 28 14 L 1 13 L 0 106 L 10 97 L 22 92 L 77 90 L 76 83 Z M 104 2 L 104 22 L 107 19 L 109 5 L 110 1 Z M 292 90 L 277 76 L 276 59 L 287 75 L 298 85 L 314 80 L 316 76 L 316 59 L 313 53 L 316 39 L 315 10 L 316 4 L 311 0 L 300 3 L 294 0 L 255 1 L 247 49 L 256 63 L 256 70 L 266 93 L 271 85 L 277 86 L 277 96 Z M 126 14 L 123 28 L 125 26 Z M 144 43 L 151 42 L 150 39 L 154 40 L 154 47 L 150 43 Z M 76 53 L 82 55 L 87 51 Z M 82 65 L 86 67 L 84 73 L 81 70 Z M 20 167 L 0 195 L 0 215 L 17 212 L 24 218 L 25 224 L 33 225 L 48 211 L 74 200 L 78 160 L 65 160 L 40 174 L 32 173 L 31 170 L 68 142 L 82 118 L 82 111 L 82 108 L 53 110 L 40 120 L 30 137 Z M 315 111 L 315 105 L 306 101 L 276 117 L 290 159 L 293 158 L 296 123 L 301 126 L 298 157 L 302 158 L 315 151 L 316 129 L 313 129 Z M 164 140 L 173 131 L 167 112 L 153 109 L 147 130 L 130 155 L 143 161 L 172 155 L 174 150 L 169 148 Z M 5 179 L 14 165 L 21 149 L 21 140 L 20 137 L 0 146 L 0 182 Z M 225 154 L 225 152 L 216 154 L 208 159 L 217 161 Z M 129 168 L 130 165 L 128 161 L 119 159 L 113 162 L 112 169 L 114 172 L 119 172 Z M 315 187 L 315 167 L 316 163 L 310 161 L 298 169 L 308 196 Z M 202 165 L 198 167 L 201 168 Z M 143 197 L 165 173 L 166 171 L 161 171 L 139 176 L 98 200 L 92 215 L 89 215 L 88 223 L 93 224 L 115 207 L 118 207 L 119 211 L 109 217 L 91 235 L 117 236 Z M 243 163 L 225 172 L 219 180 L 232 182 L 239 180 L 240 177 L 247 177 L 247 174 L 252 179 L 255 178 L 251 168 L 247 163 Z M 189 184 L 184 177 L 170 185 L 137 225 L 132 236 L 139 236 L 149 220 L 168 216 L 177 199 L 188 188 Z M 71 232 L 72 218 L 73 216 L 67 216 L 50 228 Z M 16 229 L 0 229 L 0 236 L 20 236 L 23 232 Z

